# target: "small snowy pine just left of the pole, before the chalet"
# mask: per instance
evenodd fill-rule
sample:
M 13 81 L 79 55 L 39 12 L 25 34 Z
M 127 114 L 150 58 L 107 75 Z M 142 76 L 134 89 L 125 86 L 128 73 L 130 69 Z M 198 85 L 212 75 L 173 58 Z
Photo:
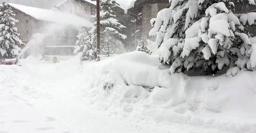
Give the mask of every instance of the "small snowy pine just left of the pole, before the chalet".
M 81 29 L 77 35 L 76 47 L 74 53 L 77 54 L 79 51 L 83 50 L 81 55 L 81 61 L 83 60 L 93 60 L 94 57 L 94 45 L 92 41 L 92 34 L 86 29 Z

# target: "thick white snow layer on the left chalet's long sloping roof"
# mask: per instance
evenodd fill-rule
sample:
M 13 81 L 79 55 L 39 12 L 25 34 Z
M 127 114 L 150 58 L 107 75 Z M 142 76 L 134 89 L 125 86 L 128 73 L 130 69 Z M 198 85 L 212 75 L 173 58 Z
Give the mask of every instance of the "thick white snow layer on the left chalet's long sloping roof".
M 76 25 L 81 27 L 92 27 L 93 24 L 85 18 L 76 15 L 62 13 L 60 11 L 45 10 L 41 8 L 34 8 L 31 6 L 23 6 L 20 4 L 8 3 L 13 8 L 20 10 L 37 20 L 44 20 L 59 24 Z

